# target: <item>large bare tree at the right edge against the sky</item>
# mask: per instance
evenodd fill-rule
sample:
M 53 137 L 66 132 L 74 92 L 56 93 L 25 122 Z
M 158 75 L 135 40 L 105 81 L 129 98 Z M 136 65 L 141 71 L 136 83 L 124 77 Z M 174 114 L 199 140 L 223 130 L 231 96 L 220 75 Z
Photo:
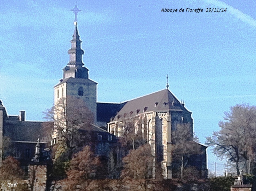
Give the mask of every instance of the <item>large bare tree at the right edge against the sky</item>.
M 240 165 L 245 173 L 251 173 L 252 159 L 255 157 L 256 107 L 248 104 L 236 105 L 225 112 L 224 121 L 219 122 L 220 131 L 207 137 L 209 146 L 218 157 L 225 157 L 236 166 L 239 175 Z

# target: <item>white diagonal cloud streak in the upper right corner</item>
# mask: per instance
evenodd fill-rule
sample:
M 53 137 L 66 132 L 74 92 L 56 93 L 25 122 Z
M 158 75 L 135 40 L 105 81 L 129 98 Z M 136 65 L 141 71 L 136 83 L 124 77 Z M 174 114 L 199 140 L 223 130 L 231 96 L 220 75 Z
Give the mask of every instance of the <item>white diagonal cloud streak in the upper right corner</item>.
M 242 11 L 239 11 L 238 9 L 232 7 L 231 5 L 228 5 L 222 1 L 217 1 L 217 0 L 203 0 L 203 1 L 208 4 L 217 5 L 218 7 L 227 8 L 227 12 L 229 12 L 231 15 L 233 15 L 237 19 L 240 19 L 242 22 L 250 25 L 251 27 L 256 27 L 255 19 L 253 19 L 250 15 L 247 15 Z

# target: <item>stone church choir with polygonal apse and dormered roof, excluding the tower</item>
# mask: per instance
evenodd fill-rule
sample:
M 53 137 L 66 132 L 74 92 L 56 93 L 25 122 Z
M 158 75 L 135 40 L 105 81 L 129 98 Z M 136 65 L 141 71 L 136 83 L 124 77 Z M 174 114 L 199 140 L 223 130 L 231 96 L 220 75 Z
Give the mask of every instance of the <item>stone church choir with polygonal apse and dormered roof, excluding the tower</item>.
M 108 132 L 122 136 L 125 123 L 131 119 L 135 133 L 141 133 L 142 139 L 151 145 L 152 154 L 156 157 L 154 166 L 162 168 L 164 178 L 172 178 L 172 132 L 176 131 L 177 124 L 189 123 L 191 125 L 188 132 L 193 140 L 191 112 L 168 89 L 164 89 L 128 101 L 116 116 L 111 118 Z M 190 159 L 190 163 L 200 171 L 201 178 L 206 178 L 206 147 L 200 144 L 197 144 L 197 147 L 202 153 L 196 156 L 196 160 Z

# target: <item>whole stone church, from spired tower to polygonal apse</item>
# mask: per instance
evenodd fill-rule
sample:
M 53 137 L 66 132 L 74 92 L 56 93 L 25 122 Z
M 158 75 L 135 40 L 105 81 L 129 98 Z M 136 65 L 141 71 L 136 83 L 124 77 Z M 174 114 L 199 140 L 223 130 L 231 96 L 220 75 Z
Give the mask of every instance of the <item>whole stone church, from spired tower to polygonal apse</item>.
M 84 51 L 81 49 L 77 22 L 68 54 L 69 62 L 63 69 L 63 79 L 54 87 L 54 103 L 67 96 L 81 98 L 92 111 L 95 126 L 101 129 L 107 127 L 108 133 L 117 137 L 122 136 L 120 132 L 125 121 L 135 119 L 135 133 L 140 131 L 142 138 L 151 145 L 152 154 L 156 156 L 155 166 L 161 164 L 159 168 L 162 168 L 164 178 L 172 178 L 172 131 L 176 130 L 177 124 L 189 123 L 193 139 L 191 112 L 168 89 L 120 104 L 98 103 L 97 83 L 89 79 L 88 69 L 82 62 Z M 201 172 L 201 178 L 206 178 L 206 147 L 200 144 L 198 147 L 202 154 L 190 164 Z

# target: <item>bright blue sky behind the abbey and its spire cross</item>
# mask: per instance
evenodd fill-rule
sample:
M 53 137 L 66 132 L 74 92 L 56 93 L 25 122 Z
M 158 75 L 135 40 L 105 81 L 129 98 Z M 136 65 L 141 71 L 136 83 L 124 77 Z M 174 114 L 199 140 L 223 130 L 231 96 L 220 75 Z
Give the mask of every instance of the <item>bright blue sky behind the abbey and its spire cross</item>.
M 2 0 L 0 99 L 9 115 L 43 120 L 62 78 L 74 31 L 75 1 Z M 206 8 L 227 8 L 207 13 Z M 83 62 L 99 102 L 124 102 L 169 89 L 192 111 L 202 143 L 224 112 L 256 104 L 256 5 L 252 0 L 78 1 Z M 162 8 L 204 9 L 161 12 Z M 223 161 L 208 149 L 208 167 Z

